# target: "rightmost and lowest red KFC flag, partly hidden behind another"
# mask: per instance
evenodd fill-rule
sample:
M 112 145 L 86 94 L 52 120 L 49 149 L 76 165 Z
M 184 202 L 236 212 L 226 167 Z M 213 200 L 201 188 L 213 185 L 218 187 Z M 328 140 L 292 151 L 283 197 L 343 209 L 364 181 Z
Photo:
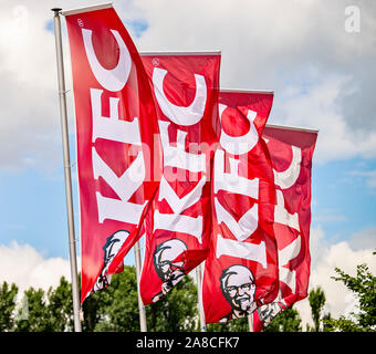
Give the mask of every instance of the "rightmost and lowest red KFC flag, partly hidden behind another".
M 276 188 L 274 233 L 279 252 L 279 294 L 253 313 L 261 331 L 282 310 L 306 298 L 310 278 L 311 169 L 317 132 L 267 126 Z

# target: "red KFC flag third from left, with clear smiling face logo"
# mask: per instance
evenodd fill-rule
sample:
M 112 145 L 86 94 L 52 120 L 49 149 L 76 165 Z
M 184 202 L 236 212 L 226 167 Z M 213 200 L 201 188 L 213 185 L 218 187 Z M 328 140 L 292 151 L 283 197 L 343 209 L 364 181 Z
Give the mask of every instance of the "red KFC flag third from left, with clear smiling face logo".
M 273 93 L 220 92 L 213 228 L 202 280 L 207 323 L 249 315 L 276 294 L 274 178 L 261 139 L 272 102 Z

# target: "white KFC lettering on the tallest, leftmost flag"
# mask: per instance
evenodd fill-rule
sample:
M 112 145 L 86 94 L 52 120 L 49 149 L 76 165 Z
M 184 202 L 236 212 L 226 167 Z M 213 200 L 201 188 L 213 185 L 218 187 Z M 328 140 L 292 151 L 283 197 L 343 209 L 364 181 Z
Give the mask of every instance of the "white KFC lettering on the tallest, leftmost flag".
M 95 55 L 92 31 L 82 29 L 86 55 L 95 79 L 105 90 L 115 92 L 125 86 L 130 72 L 132 59 L 118 32 L 115 30 L 111 30 L 111 32 L 119 46 L 119 59 L 116 67 L 107 70 L 100 64 Z M 118 105 L 121 98 L 109 97 L 109 117 L 105 117 L 102 115 L 103 90 L 91 88 L 90 94 L 93 119 L 92 143 L 94 144 L 97 138 L 103 138 L 140 147 L 138 118 L 135 117 L 132 122 L 119 119 Z M 119 177 L 102 159 L 94 146 L 92 146 L 92 163 L 94 179 L 102 177 L 118 197 L 117 199 L 108 198 L 96 191 L 100 223 L 103 223 L 106 219 L 129 223 L 137 222 L 147 201 L 144 205 L 138 205 L 129 202 L 129 199 L 145 180 L 143 150 L 138 150 L 134 162 Z

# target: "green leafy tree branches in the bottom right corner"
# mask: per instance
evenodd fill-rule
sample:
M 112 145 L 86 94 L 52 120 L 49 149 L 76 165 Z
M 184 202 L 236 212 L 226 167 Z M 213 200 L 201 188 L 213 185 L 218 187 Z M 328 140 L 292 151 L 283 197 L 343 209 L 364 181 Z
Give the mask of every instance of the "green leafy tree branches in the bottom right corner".
M 376 251 L 373 252 L 376 254 Z M 352 312 L 347 317 L 326 320 L 326 324 L 333 331 L 341 332 L 374 332 L 376 331 L 376 277 L 372 274 L 367 264 L 356 268 L 356 275 L 351 277 L 335 268 L 338 277 L 332 277 L 335 281 L 343 282 L 358 300 L 358 311 Z

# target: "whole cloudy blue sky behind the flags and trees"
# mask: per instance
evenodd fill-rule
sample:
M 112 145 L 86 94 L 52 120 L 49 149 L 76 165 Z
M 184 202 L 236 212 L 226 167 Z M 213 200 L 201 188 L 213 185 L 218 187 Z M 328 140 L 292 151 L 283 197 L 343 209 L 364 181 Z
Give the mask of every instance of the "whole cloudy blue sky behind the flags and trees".
M 30 259 L 27 269 L 33 274 L 58 258 L 66 268 L 69 258 L 50 11 L 59 2 L 0 4 L 0 266 L 8 270 L 0 281 L 24 287 L 33 282 L 28 272 L 21 273 L 20 260 L 9 256 L 12 251 L 22 250 L 20 257 L 23 262 Z M 69 9 L 96 1 L 62 3 Z M 358 9 L 359 31 L 346 28 L 349 4 Z M 330 272 L 337 266 L 351 272 L 364 261 L 376 268 L 369 256 L 376 248 L 376 101 L 372 94 L 376 4 L 129 0 L 114 6 L 139 51 L 221 50 L 223 88 L 273 90 L 269 123 L 320 129 L 312 170 L 312 287 L 322 284 L 330 310 L 341 313 L 347 304 L 337 293 L 345 290 L 331 282 Z M 63 35 L 67 61 L 64 22 Z M 70 88 L 67 62 L 65 66 Z M 79 238 L 71 92 L 67 98 Z M 133 261 L 132 251 L 126 262 Z M 54 283 L 62 269 L 51 268 L 55 278 L 44 277 L 41 283 Z

